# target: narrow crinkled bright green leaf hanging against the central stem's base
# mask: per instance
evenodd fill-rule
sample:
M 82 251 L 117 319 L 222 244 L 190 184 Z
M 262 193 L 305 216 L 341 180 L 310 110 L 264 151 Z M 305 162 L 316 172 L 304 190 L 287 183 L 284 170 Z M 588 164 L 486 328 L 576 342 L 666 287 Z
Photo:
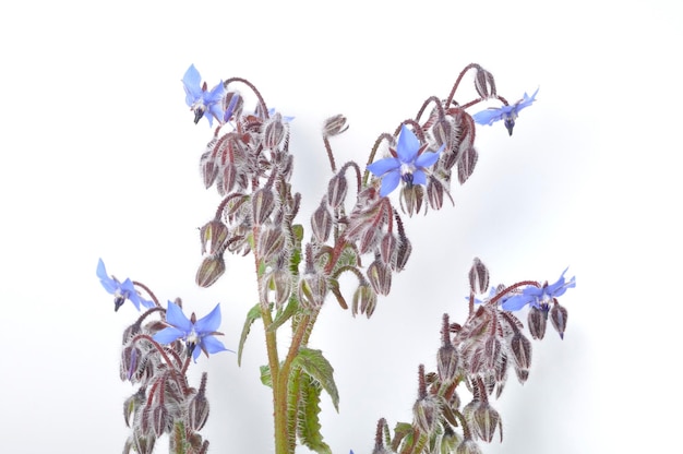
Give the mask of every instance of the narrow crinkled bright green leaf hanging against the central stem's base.
M 321 383 L 308 374 L 301 374 L 299 382 L 299 410 L 297 413 L 297 434 L 301 443 L 319 454 L 332 454 L 320 433 Z

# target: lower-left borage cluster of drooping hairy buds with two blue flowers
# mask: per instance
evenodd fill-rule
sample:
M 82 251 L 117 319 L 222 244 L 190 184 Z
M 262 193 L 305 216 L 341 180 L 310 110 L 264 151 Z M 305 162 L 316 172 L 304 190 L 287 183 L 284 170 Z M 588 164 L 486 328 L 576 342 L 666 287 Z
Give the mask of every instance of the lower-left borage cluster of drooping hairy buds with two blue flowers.
M 110 278 L 101 259 L 97 265 L 97 276 L 107 291 L 112 292 L 115 285 L 128 291 L 123 295 L 117 287 L 117 302 L 122 303 L 128 298 L 133 302 L 139 301 L 136 307 L 143 302 L 145 307 L 152 308 L 123 333 L 120 378 L 139 386 L 123 405 L 125 425 L 132 429 L 123 452 L 151 454 L 159 437 L 172 433 L 171 452 L 187 444 L 191 451 L 183 447 L 178 452 L 206 453 L 208 441 L 203 440 L 199 431 L 208 417 L 207 375 L 202 375 L 197 390 L 189 385 L 187 371 L 191 358 L 196 361 L 201 351 L 208 356 L 227 350 L 215 337 L 221 335 L 216 331 L 220 325 L 220 307 L 216 306 L 200 320 L 196 320 L 194 313 L 188 319 L 182 312 L 180 299 L 169 301 L 165 311 L 142 284 L 153 302 L 142 299 L 134 289 L 131 294 L 129 287 L 132 284 L 125 284 L 130 280 L 120 284 Z M 131 298 L 131 295 L 135 296 Z M 163 320 L 147 321 L 154 313 L 165 313 L 165 316 Z

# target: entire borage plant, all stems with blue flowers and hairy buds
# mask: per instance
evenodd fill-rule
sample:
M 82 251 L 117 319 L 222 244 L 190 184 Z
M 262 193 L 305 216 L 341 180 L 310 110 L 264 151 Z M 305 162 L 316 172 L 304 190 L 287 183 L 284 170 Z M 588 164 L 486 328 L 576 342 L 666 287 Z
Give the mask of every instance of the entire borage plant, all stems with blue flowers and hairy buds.
M 469 71 L 478 96 L 460 104 L 454 96 Z M 320 311 L 326 301 L 336 300 L 344 309 L 350 306 L 354 316 L 370 318 L 375 312 L 379 296 L 390 294 L 393 275 L 406 266 L 412 251 L 402 214 L 440 210 L 444 198 L 453 202 L 453 174 L 463 184 L 477 164 L 476 123 L 503 120 L 512 134 L 519 111 L 535 101 L 537 93 L 511 105 L 496 93 L 489 71 L 469 64 L 445 99 L 428 98 L 414 119 L 381 134 L 367 166 L 348 162 L 337 167 L 331 139 L 348 127 L 340 115 L 328 118 L 323 143 L 332 177 L 308 222 L 307 235 L 297 224 L 301 194 L 293 193 L 289 183 L 295 169 L 289 152 L 291 118 L 268 109 L 244 79 L 228 79 L 209 91 L 191 65 L 182 82 L 194 122 L 203 118 L 209 126 L 217 122 L 200 165 L 205 187 L 214 187 L 223 198 L 200 229 L 203 259 L 196 283 L 208 287 L 218 280 L 225 273 L 226 252 L 251 253 L 259 302 L 248 309 L 237 361 L 260 320 L 267 354 L 261 381 L 273 393 L 275 452 L 293 453 L 300 443 L 329 453 L 321 433 L 319 404 L 325 392 L 337 408 L 339 393 L 331 363 L 309 345 Z M 236 85 L 253 92 L 253 109 L 247 109 Z M 468 112 L 488 99 L 502 106 L 474 116 Z M 385 157 L 376 158 L 378 153 Z M 398 207 L 392 200 L 396 189 Z M 355 277 L 350 304 L 339 287 L 343 274 Z M 496 432 L 502 439 L 501 417 L 491 397 L 501 395 L 511 368 L 524 383 L 531 365 L 531 343 L 515 312 L 529 307 L 532 338 L 543 338 L 549 318 L 563 336 L 567 311 L 558 297 L 575 286 L 575 278 L 565 280 L 564 274 L 552 285 L 522 280 L 490 286 L 489 271 L 475 259 L 467 320 L 459 325 L 443 316 L 435 371 L 418 368 L 412 421 L 398 422 L 392 431 L 380 419 L 373 453 L 478 453 L 478 441 L 490 442 Z M 205 453 L 208 441 L 199 431 L 208 416 L 206 373 L 195 389 L 187 371 L 202 353 L 208 357 L 227 350 L 216 337 L 221 334 L 219 306 L 199 320 L 194 313 L 188 318 L 180 299 L 164 309 L 149 288 L 109 276 L 101 261 L 97 275 L 113 295 L 115 309 L 125 300 L 137 310 L 146 309 L 123 334 L 121 379 L 137 385 L 124 404 L 131 434 L 123 452 L 151 453 L 159 437 L 168 434 L 170 452 Z M 278 350 L 283 339 L 289 345 Z M 466 404 L 463 387 L 470 396 Z

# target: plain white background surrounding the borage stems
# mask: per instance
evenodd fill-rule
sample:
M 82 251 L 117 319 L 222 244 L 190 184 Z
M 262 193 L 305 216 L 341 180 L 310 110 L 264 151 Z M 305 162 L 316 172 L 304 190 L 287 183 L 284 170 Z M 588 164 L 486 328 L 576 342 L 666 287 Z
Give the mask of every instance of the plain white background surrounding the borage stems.
M 534 366 L 494 403 L 504 442 L 486 453 L 672 452 L 680 439 L 680 49 L 673 1 L 17 2 L 0 7 L 0 440 L 8 453 L 118 453 L 128 429 L 118 313 L 95 276 L 180 296 L 199 315 L 221 302 L 237 348 L 254 302 L 252 261 L 196 288 L 196 227 L 219 199 L 197 163 L 180 79 L 243 76 L 295 116 L 293 184 L 303 217 L 326 188 L 320 126 L 345 113 L 337 160 L 445 97 L 478 62 L 514 101 L 540 85 L 513 138 L 478 130 L 479 164 L 456 207 L 407 223 L 414 253 L 374 316 L 329 302 L 312 337 L 335 367 L 340 413 L 323 397 L 335 453 L 370 453 L 374 427 L 410 420 L 417 367 L 434 368 L 441 315 L 463 321 L 475 255 L 494 283 L 554 282 L 565 339 L 535 343 Z M 471 75 L 457 98 L 469 100 Z M 257 327 L 257 325 L 256 325 Z M 214 453 L 272 452 L 269 390 L 254 330 L 244 361 L 205 358 Z M 286 340 L 286 334 L 283 336 Z M 158 452 L 164 452 L 161 445 Z M 305 452 L 305 450 L 301 450 Z

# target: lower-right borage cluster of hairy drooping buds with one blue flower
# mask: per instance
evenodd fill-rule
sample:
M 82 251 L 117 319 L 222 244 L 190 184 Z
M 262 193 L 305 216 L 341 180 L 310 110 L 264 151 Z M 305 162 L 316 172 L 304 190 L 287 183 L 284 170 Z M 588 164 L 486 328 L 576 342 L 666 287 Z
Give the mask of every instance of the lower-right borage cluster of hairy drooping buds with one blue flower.
M 511 291 L 524 287 L 520 292 L 515 291 L 520 296 L 527 288 L 538 286 L 528 280 L 507 288 L 499 286 L 475 306 L 475 295 L 489 291 L 489 272 L 479 259 L 475 259 L 469 282 L 471 303 L 467 321 L 458 325 L 451 323 L 448 315 L 444 314 L 436 371 L 426 373 L 424 366 L 419 367 L 412 422 L 396 425 L 390 450 L 384 447 L 388 431 L 386 420 L 380 419 L 374 452 L 406 452 L 410 447 L 411 452 L 481 453 L 477 441 L 491 442 L 496 433 L 502 440 L 502 419 L 490 399 L 500 397 L 511 368 L 520 383 L 527 380 L 531 342 L 524 334 L 522 322 L 500 302 Z M 554 295 L 555 304 L 559 304 L 556 296 L 574 284 L 574 279 L 564 283 L 561 277 L 551 286 L 553 289 L 548 291 Z M 529 331 L 534 336 L 531 325 Z M 457 391 L 460 383 L 471 392 L 471 399 L 466 405 Z

